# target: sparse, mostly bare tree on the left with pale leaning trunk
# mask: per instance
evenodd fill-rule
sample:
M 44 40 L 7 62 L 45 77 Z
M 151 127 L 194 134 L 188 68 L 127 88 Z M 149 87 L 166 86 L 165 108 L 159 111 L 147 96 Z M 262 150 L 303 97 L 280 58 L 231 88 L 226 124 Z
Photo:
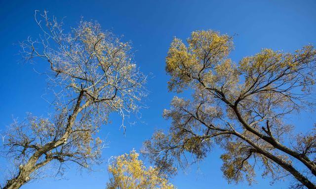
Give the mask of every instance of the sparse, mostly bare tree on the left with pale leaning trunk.
M 124 118 L 137 112 L 146 95 L 146 76 L 133 62 L 129 42 L 120 42 L 96 22 L 80 21 L 65 32 L 47 12 L 35 15 L 42 34 L 21 43 L 28 61 L 49 63 L 50 89 L 56 94 L 55 116 L 28 116 L 10 126 L 4 138 L 7 156 L 15 163 L 12 178 L 3 189 L 18 189 L 39 176 L 48 163 L 71 161 L 89 168 L 97 163 L 102 141 L 95 137 L 99 126 L 117 112 Z M 42 175 L 42 174 L 41 174 Z

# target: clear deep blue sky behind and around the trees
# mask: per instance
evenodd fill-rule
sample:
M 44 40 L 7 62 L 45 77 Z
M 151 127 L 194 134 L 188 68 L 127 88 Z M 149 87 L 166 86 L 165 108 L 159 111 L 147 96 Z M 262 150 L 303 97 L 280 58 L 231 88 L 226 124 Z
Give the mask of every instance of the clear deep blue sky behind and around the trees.
M 0 130 L 14 117 L 24 118 L 26 112 L 47 116 L 49 104 L 42 98 L 46 81 L 35 69 L 47 64 L 19 64 L 19 47 L 14 45 L 29 35 L 39 32 L 34 21 L 34 10 L 48 10 L 49 15 L 66 17 L 66 27 L 76 27 L 80 16 L 97 20 L 104 29 L 111 29 L 124 40 L 131 40 L 135 59 L 142 71 L 153 73 L 148 81 L 151 92 L 146 99 L 149 109 L 142 111 L 136 125 L 127 126 L 126 136 L 119 130 L 120 120 L 112 117 L 112 124 L 102 127 L 100 135 L 110 141 L 103 158 L 139 150 L 157 128 L 166 128 L 168 122 L 162 110 L 169 107 L 174 94 L 168 93 L 168 76 L 164 59 L 173 36 L 187 38 L 195 30 L 212 29 L 237 34 L 231 58 L 237 62 L 253 55 L 261 48 L 293 52 L 305 44 L 316 44 L 315 0 L 0 0 Z M 295 118 L 298 130 L 307 130 L 315 118 L 311 115 Z M 172 182 L 179 189 L 286 189 L 288 181 L 270 186 L 269 179 L 258 176 L 258 184 L 228 185 L 220 171 L 220 150 L 193 166 L 187 173 L 180 171 Z M 0 160 L 0 176 L 6 167 Z M 23 186 L 23 189 L 104 189 L 108 181 L 107 163 L 97 167 L 98 172 L 81 175 L 75 168 L 69 170 L 67 180 L 46 178 Z

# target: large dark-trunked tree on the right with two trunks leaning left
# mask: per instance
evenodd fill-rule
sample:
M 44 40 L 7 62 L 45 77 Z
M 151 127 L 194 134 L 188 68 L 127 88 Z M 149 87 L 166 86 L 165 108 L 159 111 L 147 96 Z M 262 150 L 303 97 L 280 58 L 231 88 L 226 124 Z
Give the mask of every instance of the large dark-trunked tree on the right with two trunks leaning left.
M 170 91 L 189 89 L 192 98 L 173 98 L 171 109 L 163 112 L 171 120 L 169 131 L 155 132 L 143 152 L 169 171 L 171 165 L 185 166 L 188 155 L 197 161 L 220 145 L 229 183 L 246 179 L 251 184 L 260 165 L 263 176 L 292 175 L 298 181 L 293 187 L 315 189 L 316 128 L 285 140 L 293 128 L 285 119 L 315 107 L 315 48 L 307 45 L 294 53 L 263 49 L 233 63 L 228 58 L 232 36 L 196 31 L 187 44 L 174 38 L 166 72 Z

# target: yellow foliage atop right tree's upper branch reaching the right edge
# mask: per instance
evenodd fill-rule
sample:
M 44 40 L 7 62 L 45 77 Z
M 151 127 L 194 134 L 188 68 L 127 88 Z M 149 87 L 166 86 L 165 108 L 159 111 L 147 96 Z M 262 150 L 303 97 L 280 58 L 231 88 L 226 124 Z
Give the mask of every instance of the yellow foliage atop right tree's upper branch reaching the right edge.
M 248 89 L 253 86 L 258 78 L 259 81 L 271 81 L 271 78 L 276 74 L 282 75 L 278 80 L 287 83 L 288 81 L 295 81 L 298 72 L 303 72 L 308 69 L 308 64 L 313 60 L 316 55 L 316 51 L 313 46 L 305 46 L 295 53 L 283 53 L 281 51 L 273 51 L 272 49 L 262 49 L 260 53 L 245 57 L 239 62 L 238 70 L 241 74 L 244 74 L 245 81 L 241 86 L 243 89 Z M 303 82 L 299 85 L 302 87 L 302 91 L 308 88 L 306 86 L 314 85 L 314 80 L 311 78 L 312 72 L 307 71 L 304 74 L 300 73 L 304 77 Z M 277 80 L 277 81 L 278 81 Z M 270 86 L 272 87 L 272 86 Z M 269 90 L 269 89 L 267 89 Z

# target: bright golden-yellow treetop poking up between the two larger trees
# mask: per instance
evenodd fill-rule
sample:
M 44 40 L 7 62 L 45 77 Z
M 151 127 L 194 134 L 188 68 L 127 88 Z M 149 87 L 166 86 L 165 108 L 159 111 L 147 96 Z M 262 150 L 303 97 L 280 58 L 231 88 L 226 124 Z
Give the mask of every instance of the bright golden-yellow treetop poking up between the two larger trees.
M 138 157 L 133 150 L 114 158 L 108 168 L 111 178 L 107 189 L 175 189 L 157 168 L 146 168 Z

